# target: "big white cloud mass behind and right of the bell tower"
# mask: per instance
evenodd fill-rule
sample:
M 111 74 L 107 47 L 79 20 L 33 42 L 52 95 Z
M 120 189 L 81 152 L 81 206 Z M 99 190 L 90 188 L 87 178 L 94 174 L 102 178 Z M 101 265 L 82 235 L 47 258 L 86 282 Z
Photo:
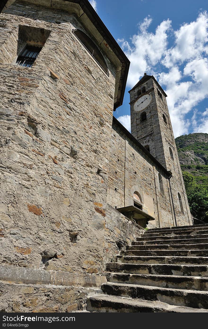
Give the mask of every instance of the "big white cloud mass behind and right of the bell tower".
M 144 71 L 154 75 L 168 95 L 175 137 L 197 129 L 207 130 L 203 109 L 195 110 L 195 121 L 187 119 L 187 114 L 191 118 L 194 108 L 208 97 L 207 12 L 200 13 L 194 22 L 183 23 L 177 31 L 172 30 L 167 19 L 157 26 L 155 33 L 150 33 L 151 22 L 152 18 L 146 17 L 129 41 L 118 40 L 131 62 L 127 85 L 132 88 Z M 168 38 L 172 34 L 174 41 L 169 47 Z

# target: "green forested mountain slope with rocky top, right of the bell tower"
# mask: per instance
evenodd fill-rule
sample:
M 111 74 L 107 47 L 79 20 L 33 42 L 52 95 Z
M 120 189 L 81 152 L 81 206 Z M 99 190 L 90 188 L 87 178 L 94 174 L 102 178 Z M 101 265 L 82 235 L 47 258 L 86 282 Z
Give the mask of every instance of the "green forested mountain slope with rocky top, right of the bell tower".
M 191 213 L 208 222 L 208 134 L 175 139 Z

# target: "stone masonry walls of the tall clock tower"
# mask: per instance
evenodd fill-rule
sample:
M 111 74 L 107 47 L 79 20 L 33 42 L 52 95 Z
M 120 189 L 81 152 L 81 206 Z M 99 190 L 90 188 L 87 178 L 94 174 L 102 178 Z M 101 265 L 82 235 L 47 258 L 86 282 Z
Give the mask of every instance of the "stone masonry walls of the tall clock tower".
M 137 92 L 142 87 L 145 87 L 146 92 L 152 96 L 150 104 L 144 109 L 146 112 L 146 120 L 141 120 L 141 112 L 134 111 L 134 102 L 138 98 Z M 158 91 L 161 93 L 161 97 L 158 95 Z M 192 225 L 191 215 L 184 187 L 183 177 L 179 164 L 177 149 L 175 146 L 175 140 L 171 127 L 168 106 L 166 97 L 162 93 L 160 87 L 156 82 L 150 78 L 139 87 L 136 87 L 130 92 L 130 106 L 131 106 L 131 132 L 132 135 L 142 143 L 143 146 L 149 145 L 150 153 L 167 169 L 172 172 L 170 180 L 173 203 L 176 214 L 177 225 Z M 163 119 L 163 114 L 166 116 L 167 124 Z M 170 157 L 169 147 L 173 152 L 174 160 Z M 166 186 L 169 182 L 166 182 Z M 181 195 L 184 213 L 180 211 L 178 192 Z M 168 195 L 168 194 L 167 194 Z M 164 196 L 160 195 L 160 199 L 163 200 Z M 173 211 L 173 210 L 172 210 Z M 162 211 L 161 216 L 163 225 L 169 226 L 169 219 L 166 214 Z

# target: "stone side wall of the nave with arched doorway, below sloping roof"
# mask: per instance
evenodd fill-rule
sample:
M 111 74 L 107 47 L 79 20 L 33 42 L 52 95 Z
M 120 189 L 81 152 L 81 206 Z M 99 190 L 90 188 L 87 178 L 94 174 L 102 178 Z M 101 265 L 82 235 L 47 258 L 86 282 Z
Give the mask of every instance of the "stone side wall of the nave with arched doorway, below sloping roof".
M 117 208 L 132 205 L 136 190 L 143 194 L 144 206 L 155 217 L 149 227 L 158 227 L 159 220 L 161 227 L 174 226 L 167 174 L 115 122 L 110 152 L 108 203 Z M 158 173 L 162 175 L 164 194 Z

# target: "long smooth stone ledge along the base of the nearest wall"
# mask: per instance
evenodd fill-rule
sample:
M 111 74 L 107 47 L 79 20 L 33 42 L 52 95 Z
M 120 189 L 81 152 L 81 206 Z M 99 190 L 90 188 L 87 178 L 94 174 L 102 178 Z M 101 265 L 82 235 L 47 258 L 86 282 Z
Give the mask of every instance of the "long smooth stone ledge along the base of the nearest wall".
M 65 271 L 46 271 L 25 267 L 0 266 L 0 280 L 8 283 L 53 284 L 61 286 L 100 287 L 105 276 Z

